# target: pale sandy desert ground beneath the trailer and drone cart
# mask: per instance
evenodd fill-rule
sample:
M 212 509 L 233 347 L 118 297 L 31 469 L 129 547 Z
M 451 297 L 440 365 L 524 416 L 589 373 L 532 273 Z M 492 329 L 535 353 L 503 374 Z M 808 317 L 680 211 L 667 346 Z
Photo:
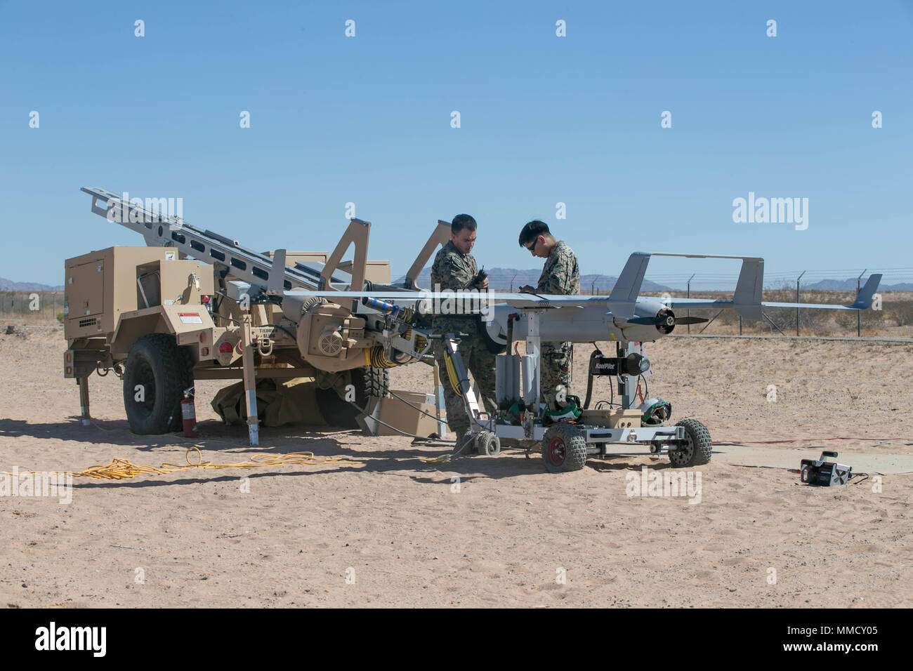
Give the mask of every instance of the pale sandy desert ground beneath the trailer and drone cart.
M 647 344 L 649 393 L 715 441 L 809 438 L 800 445 L 810 456 L 836 449 L 849 463 L 908 454 L 911 348 L 669 338 Z M 90 378 L 98 424 L 79 426 L 64 349 L 59 329 L 0 335 L 0 470 L 184 462 L 182 436 L 131 435 L 113 375 Z M 576 348 L 581 383 L 591 350 Z M 394 388 L 431 391 L 428 373 L 394 370 Z M 446 449 L 326 427 L 263 429 L 253 450 L 243 427 L 224 427 L 209 408 L 219 386 L 198 385 L 206 459 L 312 450 L 361 463 L 80 479 L 68 505 L 0 497 L 0 604 L 913 605 L 913 475 L 885 476 L 880 491 L 873 478 L 809 488 L 786 470 L 711 461 L 692 471 L 701 496 L 689 503 L 628 496 L 628 473 L 668 470 L 647 454 L 555 476 L 519 451 L 428 465 L 415 457 Z M 822 440 L 834 436 L 854 440 Z

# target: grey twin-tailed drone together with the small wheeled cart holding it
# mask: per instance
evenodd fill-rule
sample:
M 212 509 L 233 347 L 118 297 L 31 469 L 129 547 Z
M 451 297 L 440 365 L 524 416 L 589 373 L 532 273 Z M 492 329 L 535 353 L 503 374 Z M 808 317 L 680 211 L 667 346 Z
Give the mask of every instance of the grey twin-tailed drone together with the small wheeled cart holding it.
M 741 270 L 732 299 L 657 299 L 638 296 L 647 263 L 652 256 L 688 258 L 737 258 Z M 467 444 L 459 450 L 475 448 L 479 454 L 495 456 L 501 443 L 525 447 L 527 455 L 533 446 L 541 446 L 542 461 L 552 473 L 581 469 L 588 456 L 607 455 L 610 450 L 646 446 L 651 453 L 666 450 L 673 467 L 695 467 L 708 463 L 711 441 L 707 427 L 695 419 L 684 419 L 674 426 L 668 419 L 669 406 L 650 399 L 635 408 L 636 382 L 648 372 L 650 362 L 643 353 L 643 343 L 656 341 L 671 333 L 678 324 L 707 321 L 695 317 L 676 317 L 676 309 L 732 308 L 742 318 L 761 319 L 763 307 L 815 309 L 868 309 L 881 275 L 873 274 L 851 305 L 821 303 L 781 303 L 761 300 L 763 264 L 759 257 L 719 257 L 686 254 L 632 254 L 611 294 L 603 296 L 553 296 L 527 293 L 489 292 L 484 294 L 477 311 L 486 316 L 485 334 L 492 348 L 505 349 L 496 357 L 498 412 L 484 412 L 469 384 L 467 370 L 459 354 L 454 333 L 427 334 L 446 341 L 450 383 L 462 394 L 472 418 Z M 289 291 L 298 297 L 352 298 L 370 301 L 375 309 L 387 312 L 402 310 L 404 303 L 429 303 L 454 299 L 452 292 L 427 291 L 348 291 L 328 294 L 321 291 Z M 459 294 L 457 293 L 458 297 Z M 514 341 L 526 341 L 526 353 L 511 354 Z M 590 361 L 588 390 L 593 376 L 614 377 L 620 394 L 620 408 L 589 409 L 590 393 L 579 407 L 571 401 L 562 413 L 548 412 L 540 405 L 540 342 L 614 341 L 614 357 L 595 351 Z M 522 372 L 522 374 L 520 374 Z M 468 445 L 468 440 L 472 444 Z

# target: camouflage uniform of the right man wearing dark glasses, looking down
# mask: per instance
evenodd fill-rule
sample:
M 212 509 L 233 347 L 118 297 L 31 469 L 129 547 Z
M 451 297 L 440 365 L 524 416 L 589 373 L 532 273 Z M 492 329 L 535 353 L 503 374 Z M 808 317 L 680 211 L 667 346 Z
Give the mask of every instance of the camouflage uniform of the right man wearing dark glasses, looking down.
M 539 285 L 536 288 L 540 294 L 556 294 L 570 296 L 580 293 L 580 269 L 577 267 L 577 257 L 570 246 L 563 240 L 552 248 L 551 254 L 545 259 Z M 571 342 L 543 342 L 542 362 L 540 365 L 540 388 L 542 402 L 548 407 L 557 410 L 561 401 L 556 404 L 555 398 L 559 396 L 562 387 L 565 393 L 571 387 L 571 360 L 573 345 Z

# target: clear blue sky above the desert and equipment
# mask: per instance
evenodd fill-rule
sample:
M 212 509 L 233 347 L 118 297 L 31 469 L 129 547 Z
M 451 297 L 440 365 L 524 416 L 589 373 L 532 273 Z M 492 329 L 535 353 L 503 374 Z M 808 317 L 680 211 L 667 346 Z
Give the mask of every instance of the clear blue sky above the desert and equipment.
M 913 267 L 909 0 L 0 1 L 0 59 L 0 277 L 16 281 L 142 244 L 80 186 L 182 197 L 188 222 L 259 249 L 331 249 L 352 202 L 394 276 L 461 212 L 486 267 L 540 266 L 517 244 L 531 218 L 583 273 L 635 250 L 761 256 L 771 274 Z M 808 198 L 808 228 L 733 223 L 749 192 Z

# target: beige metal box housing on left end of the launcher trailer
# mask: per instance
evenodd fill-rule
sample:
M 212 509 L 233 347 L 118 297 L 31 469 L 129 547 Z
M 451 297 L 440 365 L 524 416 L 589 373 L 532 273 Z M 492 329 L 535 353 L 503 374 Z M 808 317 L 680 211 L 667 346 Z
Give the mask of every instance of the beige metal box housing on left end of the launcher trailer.
M 196 276 L 200 293 L 213 293 L 213 268 L 179 260 L 168 247 L 114 246 L 68 258 L 64 278 L 64 337 L 114 332 L 123 312 L 171 305 Z

